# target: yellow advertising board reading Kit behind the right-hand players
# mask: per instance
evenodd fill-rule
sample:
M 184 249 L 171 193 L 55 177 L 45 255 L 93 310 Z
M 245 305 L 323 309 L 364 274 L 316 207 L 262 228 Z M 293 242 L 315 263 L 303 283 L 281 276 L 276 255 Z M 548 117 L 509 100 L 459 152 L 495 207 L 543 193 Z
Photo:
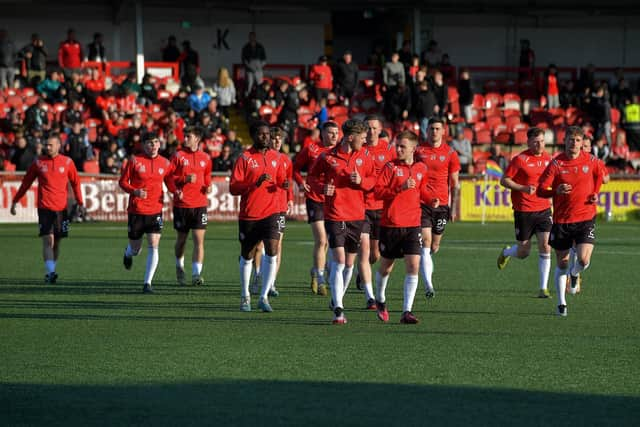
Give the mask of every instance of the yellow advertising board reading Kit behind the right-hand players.
M 600 189 L 598 213 L 611 212 L 624 221 L 640 210 L 640 180 L 612 180 Z M 497 180 L 464 180 L 460 189 L 460 220 L 512 221 L 511 190 Z

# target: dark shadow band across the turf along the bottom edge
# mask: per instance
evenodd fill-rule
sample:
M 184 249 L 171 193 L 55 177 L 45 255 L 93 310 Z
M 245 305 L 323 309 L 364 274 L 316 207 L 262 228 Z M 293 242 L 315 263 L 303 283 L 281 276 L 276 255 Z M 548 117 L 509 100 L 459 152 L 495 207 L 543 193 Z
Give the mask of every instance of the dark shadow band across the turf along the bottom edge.
M 238 361 L 238 363 L 241 363 Z M 471 387 L 216 381 L 0 384 L 4 425 L 631 426 L 640 399 Z

